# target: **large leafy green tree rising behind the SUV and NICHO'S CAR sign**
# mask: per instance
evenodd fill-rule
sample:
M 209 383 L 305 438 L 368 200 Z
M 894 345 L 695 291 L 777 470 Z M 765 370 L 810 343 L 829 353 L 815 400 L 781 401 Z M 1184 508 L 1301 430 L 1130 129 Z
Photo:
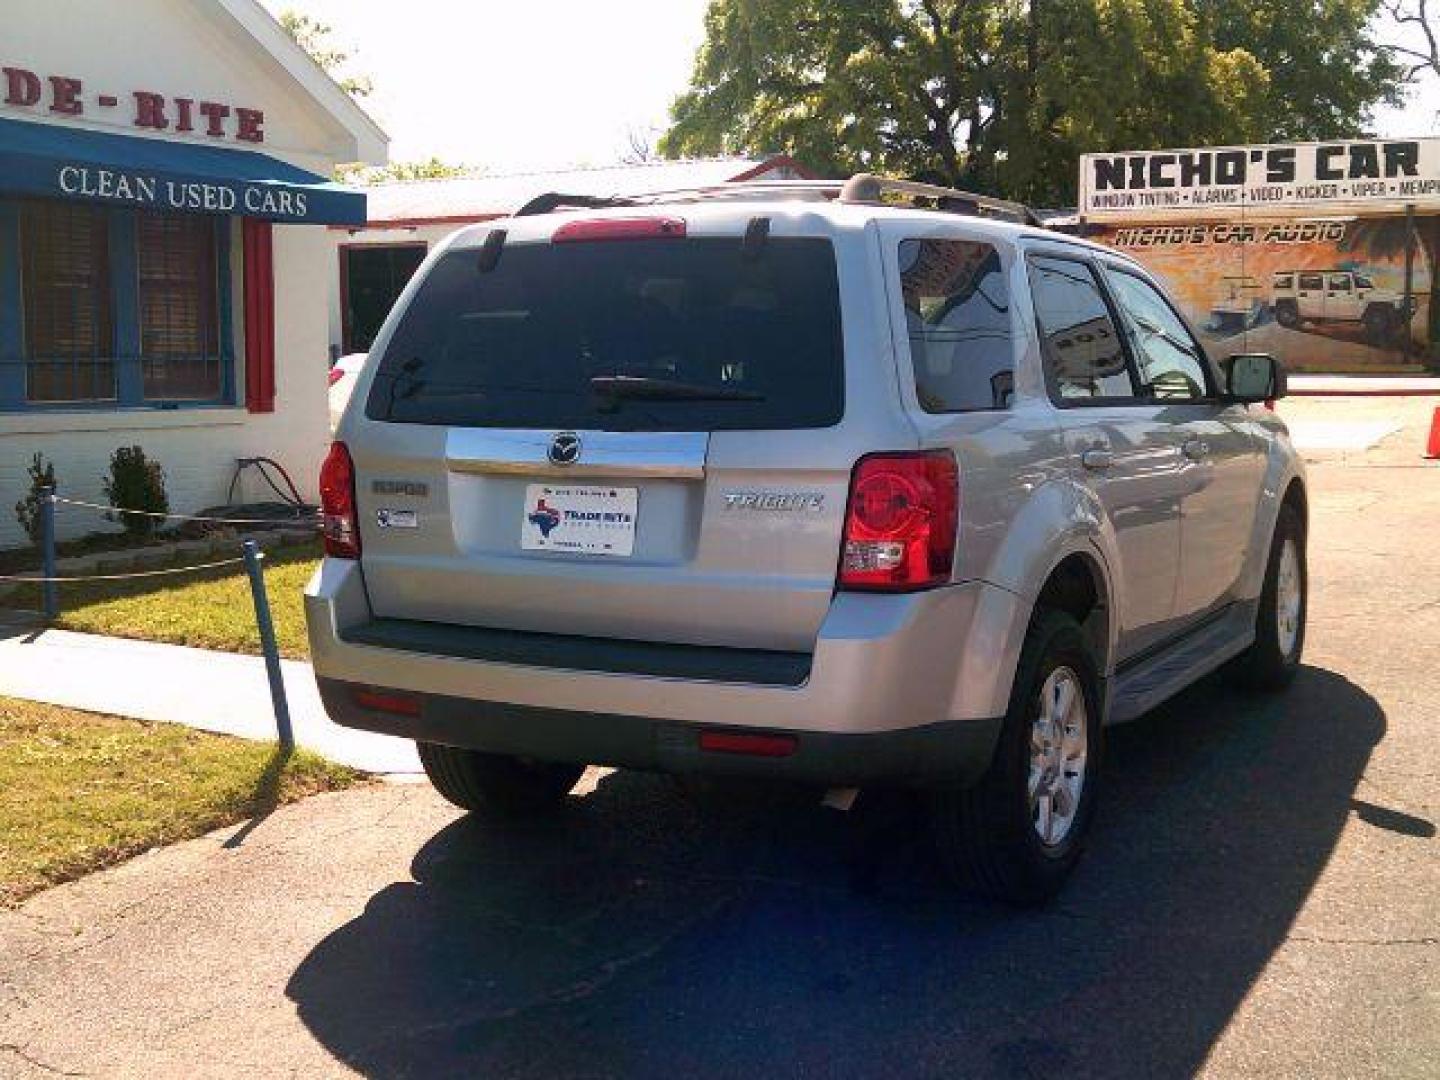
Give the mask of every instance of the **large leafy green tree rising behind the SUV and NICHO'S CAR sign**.
M 1086 151 L 1359 134 L 1378 4 L 713 0 L 660 148 L 1068 203 Z

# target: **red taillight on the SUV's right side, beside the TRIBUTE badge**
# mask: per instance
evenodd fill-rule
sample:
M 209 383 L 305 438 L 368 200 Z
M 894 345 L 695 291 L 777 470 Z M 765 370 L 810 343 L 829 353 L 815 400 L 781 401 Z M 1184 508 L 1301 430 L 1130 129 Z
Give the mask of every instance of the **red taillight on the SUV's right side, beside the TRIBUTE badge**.
M 950 580 L 959 469 L 948 451 L 873 454 L 855 464 L 840 588 L 929 589 Z

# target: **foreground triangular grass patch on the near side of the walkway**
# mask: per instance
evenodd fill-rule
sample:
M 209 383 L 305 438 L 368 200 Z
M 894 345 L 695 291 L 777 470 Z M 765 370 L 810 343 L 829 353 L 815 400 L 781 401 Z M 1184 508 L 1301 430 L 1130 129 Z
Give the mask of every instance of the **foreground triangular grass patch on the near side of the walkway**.
M 0 906 L 359 782 L 304 750 L 0 697 Z

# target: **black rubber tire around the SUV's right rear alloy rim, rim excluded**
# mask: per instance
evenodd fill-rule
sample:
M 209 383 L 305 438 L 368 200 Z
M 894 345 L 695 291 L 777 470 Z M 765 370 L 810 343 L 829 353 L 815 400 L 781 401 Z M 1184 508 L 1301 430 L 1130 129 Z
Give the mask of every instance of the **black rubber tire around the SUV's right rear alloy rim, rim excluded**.
M 1045 844 L 1028 798 L 1030 743 L 1041 688 L 1060 667 L 1076 674 L 1084 697 L 1086 769 L 1068 832 L 1058 842 Z M 952 878 L 1015 906 L 1038 904 L 1060 891 L 1080 858 L 1094 815 L 1103 744 L 1100 723 L 1100 671 L 1080 625 L 1063 612 L 1035 612 L 989 769 L 971 788 L 946 786 L 930 793 L 937 854 Z

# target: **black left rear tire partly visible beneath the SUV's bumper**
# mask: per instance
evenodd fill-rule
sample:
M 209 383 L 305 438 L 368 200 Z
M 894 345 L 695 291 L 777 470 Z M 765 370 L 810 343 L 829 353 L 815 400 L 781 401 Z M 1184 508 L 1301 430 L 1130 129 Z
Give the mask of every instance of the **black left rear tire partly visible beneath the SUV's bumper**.
M 490 818 L 521 819 L 557 809 L 583 765 L 526 762 L 498 753 L 416 743 L 431 783 L 449 802 Z

